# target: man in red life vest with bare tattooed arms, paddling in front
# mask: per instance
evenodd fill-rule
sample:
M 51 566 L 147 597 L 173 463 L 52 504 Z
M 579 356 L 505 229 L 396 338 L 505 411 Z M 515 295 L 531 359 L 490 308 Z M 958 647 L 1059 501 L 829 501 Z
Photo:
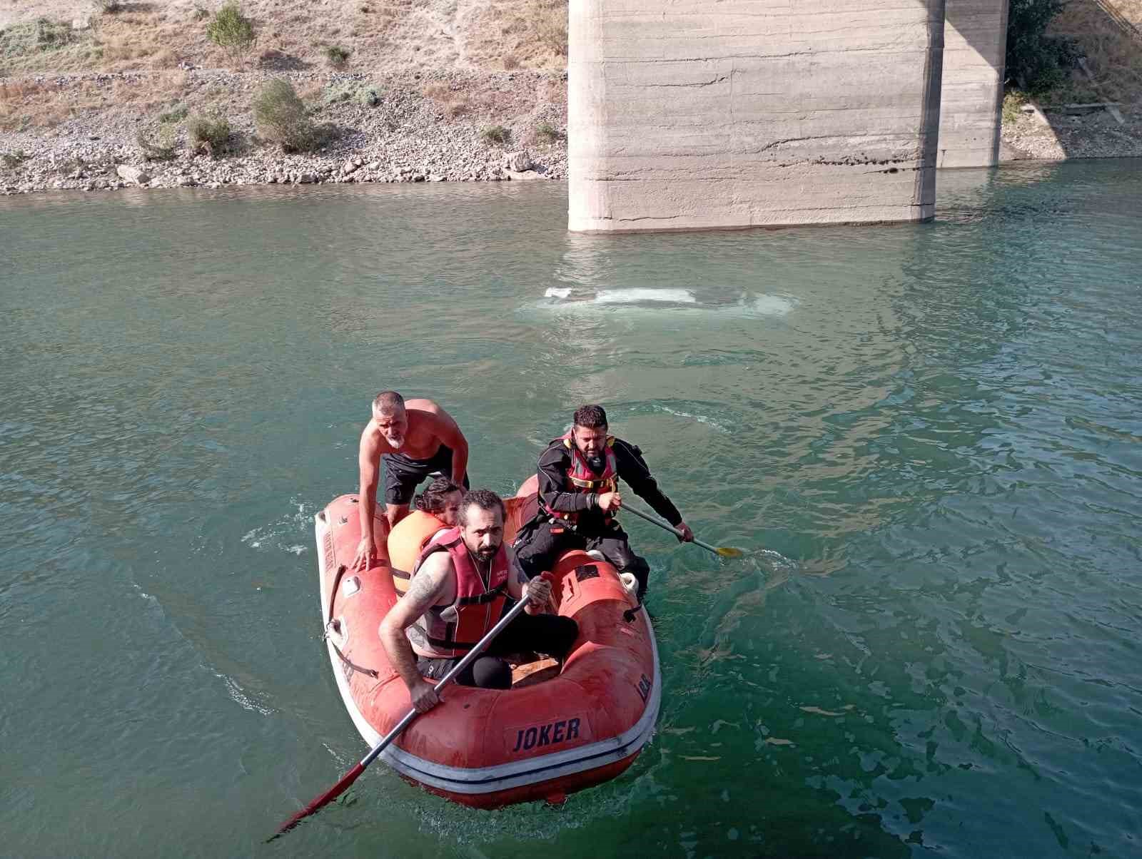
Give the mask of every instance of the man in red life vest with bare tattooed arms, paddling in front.
M 508 597 L 528 600 L 488 650 L 456 679 L 460 685 L 508 689 L 512 666 L 502 658 L 520 651 L 564 659 L 579 635 L 574 620 L 544 613 L 552 595 L 545 578 L 530 581 L 504 545 L 504 501 L 477 489 L 460 501 L 460 523 L 435 537 L 412 568 L 409 592 L 397 600 L 378 634 L 393 669 L 420 713 L 440 698 L 427 680 L 440 680 L 502 617 Z M 427 680 L 426 680 L 427 677 Z

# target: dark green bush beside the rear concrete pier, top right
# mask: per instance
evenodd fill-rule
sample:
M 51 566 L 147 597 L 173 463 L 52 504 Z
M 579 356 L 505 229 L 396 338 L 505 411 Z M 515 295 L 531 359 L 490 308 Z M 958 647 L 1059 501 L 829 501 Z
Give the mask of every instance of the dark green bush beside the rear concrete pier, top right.
M 1065 82 L 1083 56 L 1073 39 L 1046 34 L 1063 6 L 1064 0 L 1010 0 L 1007 78 L 1031 93 Z

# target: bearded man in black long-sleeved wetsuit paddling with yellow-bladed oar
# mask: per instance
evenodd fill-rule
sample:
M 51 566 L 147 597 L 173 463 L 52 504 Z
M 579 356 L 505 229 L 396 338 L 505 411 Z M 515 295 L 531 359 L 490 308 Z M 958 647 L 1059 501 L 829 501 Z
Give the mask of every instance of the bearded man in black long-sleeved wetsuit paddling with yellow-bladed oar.
M 650 567 L 630 551 L 626 531 L 614 520 L 622 506 L 619 480 L 662 519 L 694 538 L 670 499 L 662 495 L 642 451 L 606 434 L 606 412 L 601 406 L 584 406 L 573 426 L 539 457 L 539 509 L 515 541 L 520 567 L 528 576 L 550 570 L 558 556 L 572 548 L 600 552 L 619 571 L 638 579 L 638 597 L 646 593 Z

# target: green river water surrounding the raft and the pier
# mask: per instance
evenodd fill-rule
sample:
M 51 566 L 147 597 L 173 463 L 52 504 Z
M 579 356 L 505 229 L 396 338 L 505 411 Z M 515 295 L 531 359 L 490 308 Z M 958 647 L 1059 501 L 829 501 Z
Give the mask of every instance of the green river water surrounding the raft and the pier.
M 0 854 L 1142 856 L 1139 168 L 610 238 L 556 183 L 0 201 Z M 619 779 L 480 812 L 378 762 L 263 844 L 365 750 L 313 515 L 386 387 L 499 491 L 600 401 L 749 554 L 627 523 L 664 685 Z

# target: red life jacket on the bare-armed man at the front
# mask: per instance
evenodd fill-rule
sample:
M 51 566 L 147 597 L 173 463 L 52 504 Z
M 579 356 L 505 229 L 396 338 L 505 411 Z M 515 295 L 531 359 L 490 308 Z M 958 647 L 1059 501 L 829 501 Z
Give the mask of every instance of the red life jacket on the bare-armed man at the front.
M 488 581 L 460 536 L 459 528 L 440 531 L 425 546 L 412 568 L 412 578 L 434 552 L 448 552 L 456 570 L 456 601 L 451 605 L 434 605 L 413 624 L 419 632 L 409 636 L 412 650 L 420 656 L 447 659 L 464 656 L 500 619 L 507 593 L 507 549 L 500 544 L 492 559 Z M 424 641 L 416 641 L 421 637 Z

